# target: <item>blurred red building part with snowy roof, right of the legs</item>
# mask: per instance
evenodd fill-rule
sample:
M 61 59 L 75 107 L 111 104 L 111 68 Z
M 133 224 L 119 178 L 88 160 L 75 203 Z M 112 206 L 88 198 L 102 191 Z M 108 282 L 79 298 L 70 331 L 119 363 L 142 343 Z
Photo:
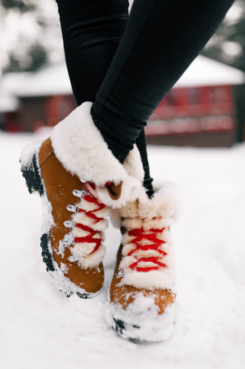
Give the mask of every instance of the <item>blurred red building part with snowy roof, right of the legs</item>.
M 151 115 L 147 143 L 231 146 L 237 129 L 232 89 L 244 82 L 241 70 L 199 55 Z

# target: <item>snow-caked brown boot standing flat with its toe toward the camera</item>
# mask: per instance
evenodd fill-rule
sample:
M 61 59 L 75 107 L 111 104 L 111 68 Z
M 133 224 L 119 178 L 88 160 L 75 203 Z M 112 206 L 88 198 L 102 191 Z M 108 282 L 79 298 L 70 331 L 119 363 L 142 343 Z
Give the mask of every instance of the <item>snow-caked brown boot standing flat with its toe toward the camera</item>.
M 122 219 L 122 245 L 104 307 L 107 323 L 134 342 L 162 341 L 175 321 L 175 253 L 169 227 L 180 208 L 171 182 L 149 199 L 143 187 L 137 200 L 113 211 Z

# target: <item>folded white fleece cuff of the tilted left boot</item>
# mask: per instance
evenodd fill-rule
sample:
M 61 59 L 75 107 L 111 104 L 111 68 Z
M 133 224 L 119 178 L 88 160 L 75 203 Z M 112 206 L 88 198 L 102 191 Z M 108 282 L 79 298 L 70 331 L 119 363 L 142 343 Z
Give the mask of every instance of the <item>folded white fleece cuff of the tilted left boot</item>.
M 90 102 L 81 104 L 55 126 L 51 136 L 52 146 L 55 155 L 69 172 L 83 182 L 95 183 L 100 187 L 97 191 L 99 199 L 108 206 L 119 208 L 138 196 L 144 177 L 140 154 L 135 145 L 123 166 L 94 125 L 91 106 Z M 115 184 L 123 182 L 120 199 L 111 199 L 105 187 L 108 181 Z

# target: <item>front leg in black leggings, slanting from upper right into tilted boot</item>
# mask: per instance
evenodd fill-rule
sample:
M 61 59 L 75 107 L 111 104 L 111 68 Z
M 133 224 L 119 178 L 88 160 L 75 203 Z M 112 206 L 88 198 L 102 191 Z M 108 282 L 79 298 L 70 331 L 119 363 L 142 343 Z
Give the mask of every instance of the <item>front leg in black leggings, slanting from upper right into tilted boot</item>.
M 122 163 L 146 121 L 213 35 L 234 0 L 135 0 L 91 108 Z

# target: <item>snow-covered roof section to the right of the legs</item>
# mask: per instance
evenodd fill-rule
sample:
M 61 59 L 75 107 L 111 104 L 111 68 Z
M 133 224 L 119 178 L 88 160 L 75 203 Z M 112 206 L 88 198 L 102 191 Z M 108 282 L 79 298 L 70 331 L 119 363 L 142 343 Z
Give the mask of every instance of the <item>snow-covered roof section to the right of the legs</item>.
M 242 83 L 245 83 L 245 73 L 240 69 L 198 55 L 173 88 L 241 85 Z

